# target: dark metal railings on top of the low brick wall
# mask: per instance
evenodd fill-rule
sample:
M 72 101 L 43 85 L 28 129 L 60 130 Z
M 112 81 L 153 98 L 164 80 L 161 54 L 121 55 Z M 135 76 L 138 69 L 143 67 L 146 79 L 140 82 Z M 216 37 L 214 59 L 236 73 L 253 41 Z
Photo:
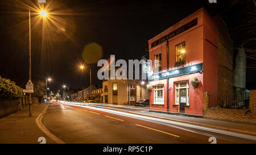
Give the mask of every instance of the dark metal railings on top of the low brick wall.
M 249 91 L 235 91 L 234 94 L 210 93 L 208 107 L 247 109 L 250 104 Z

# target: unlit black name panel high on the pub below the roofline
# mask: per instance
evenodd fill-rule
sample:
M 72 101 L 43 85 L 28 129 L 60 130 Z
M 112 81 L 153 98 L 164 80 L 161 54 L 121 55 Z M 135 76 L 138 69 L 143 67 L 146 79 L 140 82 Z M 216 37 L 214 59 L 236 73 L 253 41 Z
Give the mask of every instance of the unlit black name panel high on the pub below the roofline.
M 156 45 L 159 45 L 159 44 L 163 43 L 164 41 L 170 39 L 171 37 L 179 35 L 179 33 L 182 33 L 182 32 L 188 30 L 189 28 L 191 28 L 193 26 L 196 26 L 196 24 L 197 24 L 197 18 L 193 19 L 191 22 L 185 24 L 184 26 L 181 26 L 181 27 L 177 28 L 176 30 L 168 33 L 168 35 L 165 35 L 165 36 L 161 37 L 160 39 L 154 41 L 151 44 L 151 48 L 155 47 Z

